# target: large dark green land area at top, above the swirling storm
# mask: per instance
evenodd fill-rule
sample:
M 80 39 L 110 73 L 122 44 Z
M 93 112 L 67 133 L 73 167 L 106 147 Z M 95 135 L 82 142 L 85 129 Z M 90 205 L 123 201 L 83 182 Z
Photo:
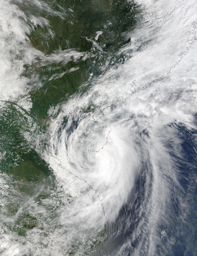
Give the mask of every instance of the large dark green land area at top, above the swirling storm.
M 60 49 L 76 49 L 84 54 L 77 61 L 74 56 L 67 63 L 62 58 L 50 63 L 37 59 L 32 66 L 25 67 L 23 75 L 32 75 L 32 79 L 35 73 L 39 76 L 41 87 L 31 92 L 31 111 L 42 122 L 47 118 L 50 106 L 65 101 L 78 92 L 80 85 L 87 82 L 90 75 L 99 75 L 101 67 L 107 68 L 106 60 L 113 63 L 124 57 L 114 54 L 129 41 L 125 33 L 131 31 L 136 22 L 135 16 L 139 13 L 139 6 L 133 1 L 59 0 L 47 3 L 55 12 L 43 11 L 42 16 L 48 19 L 49 25 L 43 28 L 38 26 L 28 35 L 32 45 L 46 56 Z M 96 41 L 97 31 L 102 31 L 102 34 Z M 85 56 L 85 53 L 89 55 Z M 66 58 L 66 52 L 64 54 Z M 69 72 L 71 68 L 75 70 Z

